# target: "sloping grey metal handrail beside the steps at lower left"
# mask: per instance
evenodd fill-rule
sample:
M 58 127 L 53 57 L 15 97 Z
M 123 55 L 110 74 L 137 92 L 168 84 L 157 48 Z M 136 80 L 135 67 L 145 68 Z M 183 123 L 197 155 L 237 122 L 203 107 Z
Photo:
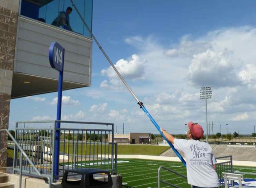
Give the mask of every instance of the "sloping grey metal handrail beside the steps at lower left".
M 24 157 L 28 160 L 28 162 L 34 168 L 34 170 L 38 174 L 38 176 L 48 179 L 49 188 L 51 188 L 51 178 L 49 176 L 41 174 L 38 171 L 38 169 L 35 167 L 34 163 L 29 159 L 28 155 L 25 153 L 25 151 L 22 149 L 22 147 L 19 145 L 19 143 L 17 143 L 17 141 L 13 138 L 13 135 L 7 129 L 1 129 L 0 132 L 2 132 L 2 131 L 6 131 L 7 134 L 10 136 L 10 138 L 15 143 L 15 145 L 20 149 L 20 183 L 19 183 L 19 188 L 21 188 L 21 181 L 22 181 L 22 155 L 24 155 Z M 0 134 L 0 137 L 1 137 L 1 134 Z

